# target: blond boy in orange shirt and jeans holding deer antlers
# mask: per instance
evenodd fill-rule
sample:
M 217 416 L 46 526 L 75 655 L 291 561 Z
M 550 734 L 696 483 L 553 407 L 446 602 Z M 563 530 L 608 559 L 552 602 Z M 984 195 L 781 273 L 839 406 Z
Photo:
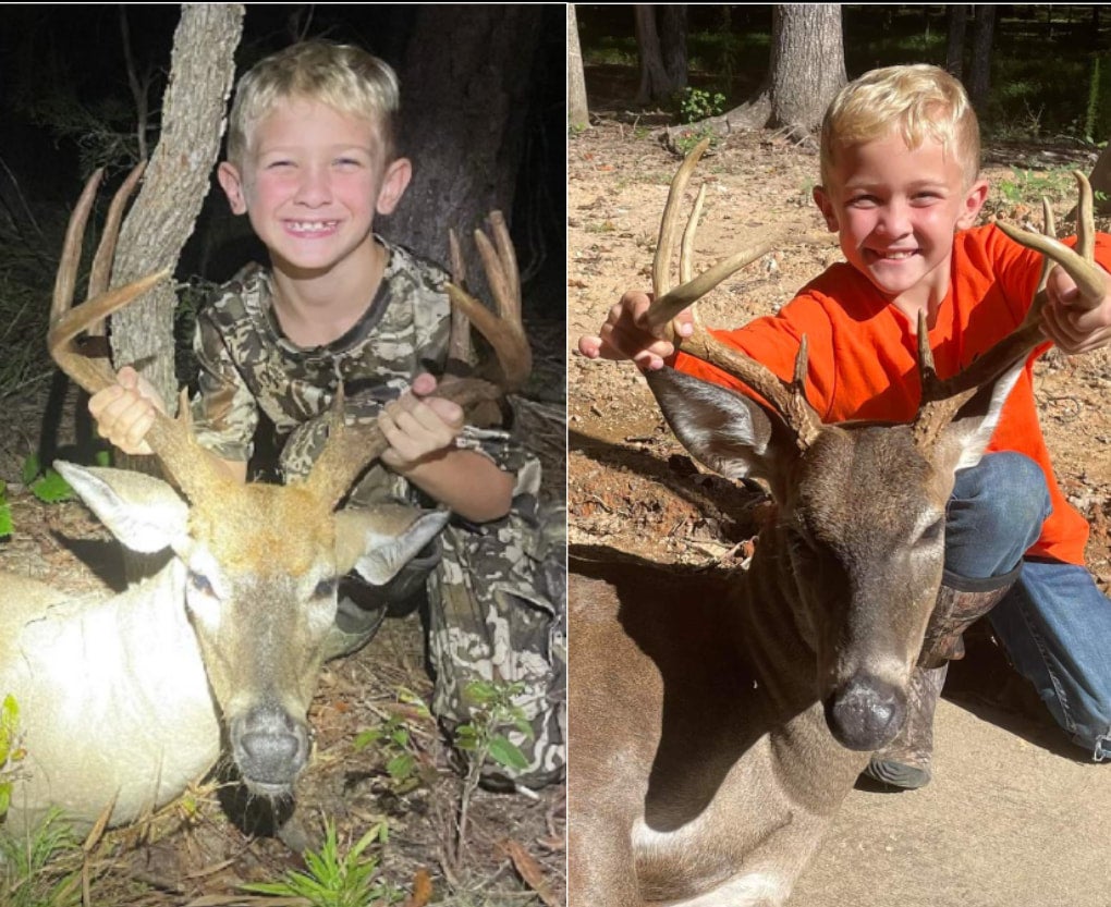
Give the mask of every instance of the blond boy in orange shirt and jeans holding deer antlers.
M 987 199 L 977 118 L 961 84 L 937 67 L 874 70 L 847 85 L 821 132 L 814 201 L 845 261 L 833 264 L 774 316 L 731 332 L 727 343 L 790 380 L 809 343 L 807 396 L 825 422 L 910 421 L 919 405 L 917 325 L 927 316 L 939 376 L 954 374 L 1019 325 L 1041 274 L 1041 256 L 994 225 L 974 226 Z M 1097 261 L 1111 264 L 1098 236 Z M 1065 500 L 1038 424 L 1033 365 L 1052 343 L 1067 353 L 1111 339 L 1111 281 L 1093 309 L 1049 274 L 1042 331 L 980 464 L 957 474 L 945 521 L 945 573 L 938 608 L 958 627 L 984 609 L 1015 668 L 1030 679 L 1073 743 L 1111 758 L 1111 601 L 1084 568 L 1088 524 Z M 652 334 L 649 298 L 627 293 L 590 357 L 671 364 L 718 384 L 735 379 Z M 690 318 L 677 319 L 690 334 Z M 945 666 L 912 677 L 911 713 L 874 754 L 868 774 L 899 787 L 930 780 L 934 706 Z

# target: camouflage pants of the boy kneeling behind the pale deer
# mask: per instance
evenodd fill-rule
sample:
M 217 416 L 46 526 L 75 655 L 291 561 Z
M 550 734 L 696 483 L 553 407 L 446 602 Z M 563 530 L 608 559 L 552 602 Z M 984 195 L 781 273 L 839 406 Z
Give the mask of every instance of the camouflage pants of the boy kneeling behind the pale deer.
M 323 426 L 301 426 L 281 461 L 288 480 L 303 475 L 323 443 Z M 507 447 L 504 433 L 467 430 L 462 444 L 492 454 L 517 475 L 513 505 L 502 520 L 482 525 L 453 518 L 438 537 L 440 557 L 428 576 L 432 712 L 453 733 L 471 723 L 472 682 L 518 685 L 513 705 L 530 733 L 496 728 L 524 755 L 527 766 L 488 763 L 492 784 L 539 787 L 560 780 L 567 725 L 567 522 L 562 504 L 541 505 L 540 464 Z M 512 445 L 509 445 L 512 446 Z M 347 506 L 412 502 L 404 480 L 376 464 Z

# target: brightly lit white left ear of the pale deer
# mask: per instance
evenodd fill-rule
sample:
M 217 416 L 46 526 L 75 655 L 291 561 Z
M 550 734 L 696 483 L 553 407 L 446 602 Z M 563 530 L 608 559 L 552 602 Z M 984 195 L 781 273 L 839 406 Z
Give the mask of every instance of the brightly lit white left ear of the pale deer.
M 162 480 L 64 461 L 56 461 L 54 468 L 131 551 L 154 554 L 184 536 L 189 506 Z

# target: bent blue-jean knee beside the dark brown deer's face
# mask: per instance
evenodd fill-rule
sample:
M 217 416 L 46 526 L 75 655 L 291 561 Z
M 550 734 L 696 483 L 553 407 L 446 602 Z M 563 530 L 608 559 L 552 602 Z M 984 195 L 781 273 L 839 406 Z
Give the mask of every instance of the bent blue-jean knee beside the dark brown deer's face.
M 1052 506 L 1045 474 L 1011 451 L 957 473 L 945 512 L 945 568 L 968 577 L 1013 570 L 1038 541 Z

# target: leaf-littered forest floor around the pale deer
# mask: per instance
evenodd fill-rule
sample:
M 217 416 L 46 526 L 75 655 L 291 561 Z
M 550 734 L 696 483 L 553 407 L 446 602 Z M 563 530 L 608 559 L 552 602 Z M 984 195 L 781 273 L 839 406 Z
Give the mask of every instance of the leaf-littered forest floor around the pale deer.
M 562 295 L 559 285 L 543 292 Z M 541 309 L 543 311 L 543 309 Z M 522 436 L 544 467 L 544 494 L 562 498 L 565 473 L 562 323 L 527 324 L 533 340 L 534 389 Z M 532 385 L 530 385 L 532 386 Z M 62 441 L 73 436 L 70 389 L 64 415 L 43 417 L 48 389 L 9 400 L 0 413 L 0 477 L 7 481 L 14 532 L 0 540 L 0 571 L 49 582 L 73 594 L 107 592 L 122 584 L 120 546 L 79 502 L 43 504 L 20 481 L 24 457 L 39 449 L 44 422 Z M 52 422 L 52 420 L 59 420 Z M 57 424 L 60 427 L 53 429 Z M 62 447 L 66 458 L 72 453 Z M 0 588 L 2 593 L 2 588 Z M 316 740 L 310 764 L 297 784 L 301 825 L 319 842 L 331 823 L 342 858 L 379 824 L 388 840 L 364 858 L 378 861 L 376 878 L 399 893 L 408 907 L 426 903 L 459 907 L 529 907 L 565 903 L 562 785 L 536 794 L 474 792 L 460 848 L 458 817 L 464 780 L 446 736 L 434 720 L 402 701 L 411 691 L 431 699 L 419 615 L 388 619 L 360 652 L 326 665 L 310 709 Z M 0 691 L 0 697 L 2 697 Z M 372 729 L 402 728 L 403 747 L 363 745 Z M 127 742 L 118 742 L 126 746 Z M 403 777 L 391 776 L 389 760 L 401 750 L 416 760 Z M 200 785 L 159 815 L 137 826 L 109 832 L 86 860 L 94 907 L 218 907 L 219 905 L 310 905 L 310 901 L 249 895 L 242 886 L 272 883 L 304 871 L 306 861 L 273 836 L 243 829 L 222 805 L 214 783 Z M 232 800 L 233 802 L 233 800 Z M 0 826 L 2 828 L 2 826 Z M 39 874 L 46 890 L 80 861 L 72 848 Z M 62 901 L 20 900 L 33 907 Z M 70 904 L 71 901 L 66 901 Z M 320 901 L 329 904 L 333 901 Z M 334 901 L 353 903 L 353 901 Z M 393 903 L 382 897 L 366 907 Z M 8 907 L 0 876 L 0 905 Z M 310 905 L 311 907 L 311 905 Z M 360 904 L 360 907 L 363 907 Z

